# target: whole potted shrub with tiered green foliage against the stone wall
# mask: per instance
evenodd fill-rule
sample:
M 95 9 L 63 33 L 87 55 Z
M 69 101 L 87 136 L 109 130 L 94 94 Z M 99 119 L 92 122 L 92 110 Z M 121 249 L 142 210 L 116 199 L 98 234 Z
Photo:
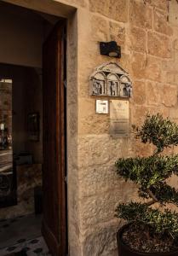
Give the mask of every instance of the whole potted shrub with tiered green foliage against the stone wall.
M 178 207 L 178 191 L 168 183 L 172 174 L 178 176 L 178 154 L 162 153 L 178 144 L 178 125 L 160 114 L 147 114 L 136 135 L 155 150 L 149 157 L 116 162 L 118 175 L 137 184 L 141 198 L 118 204 L 116 216 L 127 221 L 117 233 L 118 255 L 178 256 L 178 213 L 169 208 Z

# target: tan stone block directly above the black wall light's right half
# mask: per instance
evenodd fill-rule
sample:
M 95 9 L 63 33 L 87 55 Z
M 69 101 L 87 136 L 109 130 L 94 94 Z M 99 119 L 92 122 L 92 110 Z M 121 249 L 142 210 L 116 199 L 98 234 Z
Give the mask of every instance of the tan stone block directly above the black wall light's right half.
M 118 45 L 122 47 L 122 49 L 125 48 L 125 27 L 118 25 L 118 23 L 110 22 L 109 23 L 109 34 L 110 34 L 110 40 L 116 41 Z

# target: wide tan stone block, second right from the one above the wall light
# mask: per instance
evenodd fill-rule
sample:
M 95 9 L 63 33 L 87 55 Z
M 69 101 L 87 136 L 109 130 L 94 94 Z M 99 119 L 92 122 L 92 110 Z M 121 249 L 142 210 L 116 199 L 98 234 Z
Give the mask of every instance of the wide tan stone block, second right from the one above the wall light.
M 148 32 L 148 53 L 162 58 L 171 56 L 169 38 L 155 32 Z

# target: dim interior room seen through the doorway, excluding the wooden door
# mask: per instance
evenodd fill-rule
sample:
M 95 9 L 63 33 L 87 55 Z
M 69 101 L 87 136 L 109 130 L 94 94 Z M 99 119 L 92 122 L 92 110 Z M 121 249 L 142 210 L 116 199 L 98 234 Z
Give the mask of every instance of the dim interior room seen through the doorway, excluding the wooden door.
M 0 255 L 48 255 L 41 235 L 42 51 L 59 18 L 3 2 L 0 9 Z

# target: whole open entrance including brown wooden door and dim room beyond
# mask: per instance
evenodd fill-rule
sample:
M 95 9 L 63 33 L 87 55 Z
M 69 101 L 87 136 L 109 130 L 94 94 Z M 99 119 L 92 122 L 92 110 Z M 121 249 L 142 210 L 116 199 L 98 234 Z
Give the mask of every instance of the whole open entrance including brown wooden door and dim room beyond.
M 63 256 L 66 22 L 0 9 L 0 255 Z

